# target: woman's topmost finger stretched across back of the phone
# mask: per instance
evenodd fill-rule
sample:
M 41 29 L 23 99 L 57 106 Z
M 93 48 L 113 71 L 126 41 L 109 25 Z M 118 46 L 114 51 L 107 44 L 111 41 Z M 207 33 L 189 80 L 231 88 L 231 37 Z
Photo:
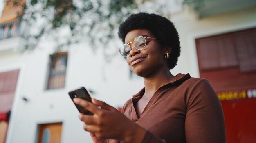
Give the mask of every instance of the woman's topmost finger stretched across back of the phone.
M 74 98 L 73 101 L 74 101 L 75 104 L 78 104 L 78 105 L 82 106 L 83 108 L 87 109 L 88 111 L 90 111 L 92 113 L 98 113 L 99 110 L 100 110 L 97 106 L 95 106 L 91 102 L 88 102 L 88 101 L 83 100 L 81 98 Z

